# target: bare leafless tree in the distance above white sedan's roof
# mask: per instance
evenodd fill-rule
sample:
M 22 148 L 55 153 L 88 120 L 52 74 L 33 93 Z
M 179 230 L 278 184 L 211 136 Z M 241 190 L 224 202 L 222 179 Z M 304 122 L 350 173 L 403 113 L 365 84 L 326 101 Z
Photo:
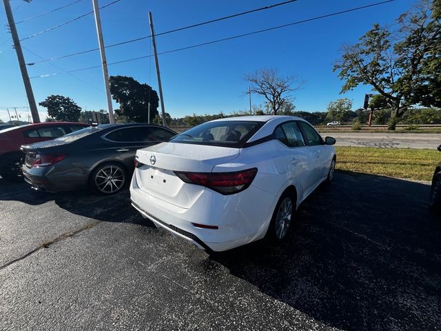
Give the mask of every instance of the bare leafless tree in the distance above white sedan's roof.
M 293 75 L 279 77 L 277 70 L 273 68 L 256 70 L 243 79 L 251 83 L 252 93 L 263 95 L 267 99 L 274 115 L 285 103 L 294 101 L 292 92 L 300 90 L 303 85 L 303 81 Z

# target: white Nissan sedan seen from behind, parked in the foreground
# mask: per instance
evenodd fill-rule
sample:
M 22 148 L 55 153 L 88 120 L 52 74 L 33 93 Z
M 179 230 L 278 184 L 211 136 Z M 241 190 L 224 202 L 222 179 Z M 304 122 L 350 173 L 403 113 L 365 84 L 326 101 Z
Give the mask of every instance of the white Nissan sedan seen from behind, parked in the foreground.
M 277 243 L 298 205 L 332 180 L 335 142 L 298 117 L 209 121 L 136 152 L 132 205 L 198 248 Z

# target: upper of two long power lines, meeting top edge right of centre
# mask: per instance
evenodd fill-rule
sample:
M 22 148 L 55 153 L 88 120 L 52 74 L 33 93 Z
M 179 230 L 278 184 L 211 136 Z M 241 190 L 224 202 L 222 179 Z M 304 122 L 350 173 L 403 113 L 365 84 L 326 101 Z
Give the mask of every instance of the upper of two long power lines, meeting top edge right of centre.
M 220 17 L 218 19 L 212 19 L 212 20 L 209 20 L 209 21 L 192 24 L 191 26 L 183 26 L 182 28 L 176 28 L 176 29 L 173 29 L 173 30 L 168 30 L 168 31 L 165 31 L 165 32 L 156 33 L 155 36 L 158 37 L 158 36 L 162 36 L 163 34 L 169 34 L 169 33 L 172 33 L 172 32 L 178 32 L 178 31 L 187 30 L 187 29 L 190 29 L 190 28 L 196 28 L 197 26 L 204 26 L 205 24 L 214 23 L 214 22 L 218 22 L 218 21 L 223 21 L 225 19 L 232 19 L 233 17 L 238 17 L 238 16 L 242 16 L 242 15 L 245 15 L 245 14 L 250 14 L 252 12 L 259 12 L 261 10 L 267 10 L 267 9 L 275 8 L 275 7 L 278 7 L 278 6 L 283 6 L 283 5 L 286 5 L 287 3 L 292 3 L 292 2 L 296 2 L 296 1 L 298 1 L 298 0 L 289 0 L 289 1 L 284 1 L 284 2 L 280 2 L 280 3 L 274 3 L 274 5 L 260 7 L 260 8 L 256 8 L 256 9 L 253 9 L 253 10 L 247 10 L 246 12 L 239 12 L 237 14 L 232 14 L 232 15 L 228 15 L 228 16 L 225 16 L 225 17 Z M 139 37 L 139 38 L 136 38 L 136 39 L 130 39 L 130 40 L 127 40 L 127 41 L 121 41 L 121 43 L 114 43 L 114 44 L 111 44 L 111 45 L 107 45 L 107 46 L 105 46 L 105 48 L 121 46 L 121 45 L 125 45 L 126 43 L 134 43 L 136 41 L 141 41 L 141 40 L 149 39 L 149 38 L 152 38 L 152 36 L 149 35 L 149 36 L 145 36 L 145 37 Z M 63 55 L 61 57 L 52 57 L 51 59 L 46 59 L 44 61 L 35 61 L 35 62 L 32 62 L 32 63 L 26 63 L 26 64 L 28 64 L 28 66 L 34 66 L 34 64 L 37 64 L 37 63 L 46 62 L 46 61 L 54 61 L 54 60 L 59 60 L 59 59 L 65 59 L 66 57 L 73 57 L 75 55 L 85 54 L 85 53 L 89 53 L 89 52 L 95 52 L 96 50 L 99 50 L 99 48 L 92 48 L 90 50 L 83 50 L 81 52 L 76 52 L 76 53 L 73 53 L 73 54 Z

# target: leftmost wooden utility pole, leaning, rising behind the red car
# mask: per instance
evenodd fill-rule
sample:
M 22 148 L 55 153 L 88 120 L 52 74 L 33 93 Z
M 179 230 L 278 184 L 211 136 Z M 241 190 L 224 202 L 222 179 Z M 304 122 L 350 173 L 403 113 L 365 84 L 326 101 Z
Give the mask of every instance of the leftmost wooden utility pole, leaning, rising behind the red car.
M 32 120 L 34 123 L 40 123 L 39 112 L 34 99 L 34 92 L 32 92 L 32 86 L 30 85 L 28 69 L 26 68 L 25 57 L 23 56 L 23 50 L 21 50 L 19 34 L 17 32 L 17 28 L 15 27 L 14 16 L 12 15 L 12 9 L 9 1 L 10 0 L 3 0 L 3 4 L 5 6 L 6 17 L 8 17 L 8 25 L 11 30 L 12 40 L 14 41 L 15 52 L 17 52 L 17 59 L 19 60 L 21 77 L 23 77 L 23 83 L 25 85 L 26 96 L 28 97 Z M 28 0 L 25 1 L 29 2 Z

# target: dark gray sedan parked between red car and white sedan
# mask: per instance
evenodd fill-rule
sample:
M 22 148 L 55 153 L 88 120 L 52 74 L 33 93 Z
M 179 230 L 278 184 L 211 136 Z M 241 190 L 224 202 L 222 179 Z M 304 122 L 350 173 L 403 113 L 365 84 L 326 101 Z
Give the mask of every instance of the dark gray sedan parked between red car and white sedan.
M 104 124 L 22 146 L 22 170 L 33 188 L 59 192 L 91 188 L 119 192 L 132 177 L 139 148 L 169 141 L 176 132 L 147 124 Z

